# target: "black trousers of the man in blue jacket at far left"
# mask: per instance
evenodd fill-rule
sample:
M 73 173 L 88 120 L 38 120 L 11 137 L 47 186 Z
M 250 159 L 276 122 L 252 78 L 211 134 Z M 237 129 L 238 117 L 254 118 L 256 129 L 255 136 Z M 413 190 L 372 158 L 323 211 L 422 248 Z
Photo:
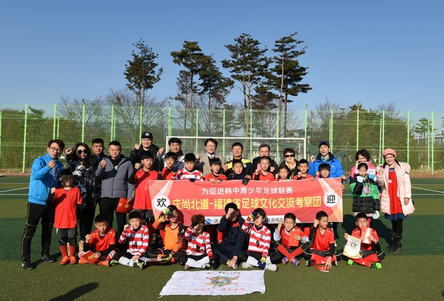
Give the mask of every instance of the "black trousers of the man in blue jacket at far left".
M 49 255 L 55 210 L 55 206 L 28 203 L 26 225 L 22 237 L 22 261 L 31 260 L 31 241 L 40 218 L 42 219 L 42 255 Z

